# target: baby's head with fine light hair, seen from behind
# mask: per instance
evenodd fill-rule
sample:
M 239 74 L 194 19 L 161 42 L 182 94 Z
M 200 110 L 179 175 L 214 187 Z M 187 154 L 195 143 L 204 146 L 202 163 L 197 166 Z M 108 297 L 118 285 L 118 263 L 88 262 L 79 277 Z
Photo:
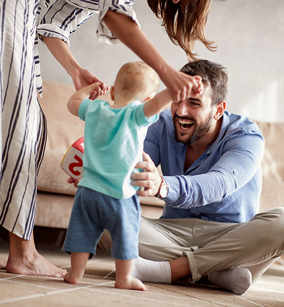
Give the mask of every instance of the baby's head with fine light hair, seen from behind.
M 121 67 L 114 83 L 114 93 L 125 92 L 133 100 L 144 102 L 155 96 L 158 87 L 159 77 L 155 70 L 142 61 L 136 61 Z

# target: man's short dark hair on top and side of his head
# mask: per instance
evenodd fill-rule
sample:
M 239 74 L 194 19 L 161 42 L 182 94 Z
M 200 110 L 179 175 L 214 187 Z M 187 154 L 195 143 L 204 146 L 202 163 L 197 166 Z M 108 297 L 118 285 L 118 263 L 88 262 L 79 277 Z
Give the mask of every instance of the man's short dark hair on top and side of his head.
M 212 105 L 226 100 L 228 75 L 226 68 L 221 64 L 199 60 L 185 64 L 181 71 L 190 76 L 201 76 L 204 86 L 210 86 L 212 89 Z

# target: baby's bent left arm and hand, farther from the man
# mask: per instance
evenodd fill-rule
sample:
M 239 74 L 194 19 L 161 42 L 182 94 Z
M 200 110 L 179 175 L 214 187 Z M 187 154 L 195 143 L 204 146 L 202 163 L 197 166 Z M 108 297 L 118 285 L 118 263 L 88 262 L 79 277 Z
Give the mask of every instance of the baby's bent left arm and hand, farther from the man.
M 95 82 L 91 85 L 83 87 L 81 90 L 73 94 L 67 102 L 69 112 L 78 116 L 79 106 L 84 99 L 89 98 L 91 94 L 92 98 L 94 99 L 96 99 L 99 95 L 103 95 L 103 91 L 99 86 L 100 84 L 100 82 Z

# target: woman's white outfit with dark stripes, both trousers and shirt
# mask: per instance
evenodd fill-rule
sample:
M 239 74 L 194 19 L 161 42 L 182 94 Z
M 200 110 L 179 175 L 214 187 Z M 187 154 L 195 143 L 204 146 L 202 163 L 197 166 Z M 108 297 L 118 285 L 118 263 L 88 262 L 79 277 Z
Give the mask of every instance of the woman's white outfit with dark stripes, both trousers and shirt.
M 108 10 L 139 21 L 134 0 L 0 0 L 0 86 L 2 170 L 0 225 L 30 239 L 35 218 L 36 174 L 46 144 L 46 120 L 39 106 L 42 80 L 38 35 L 69 42 L 69 36 L 94 13 L 98 39 L 119 40 L 103 23 Z M 42 7 L 47 11 L 41 16 Z M 36 34 L 37 24 L 37 34 Z M 1 126 L 2 125 L 2 126 Z

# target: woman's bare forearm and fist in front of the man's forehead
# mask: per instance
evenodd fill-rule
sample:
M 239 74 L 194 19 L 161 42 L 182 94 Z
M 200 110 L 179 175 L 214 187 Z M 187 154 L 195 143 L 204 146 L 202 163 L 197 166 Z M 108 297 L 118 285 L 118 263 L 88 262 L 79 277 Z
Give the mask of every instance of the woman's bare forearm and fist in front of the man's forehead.
M 192 76 L 174 70 L 132 19 L 108 10 L 103 21 L 124 45 L 158 73 L 168 87 L 174 101 L 189 98 L 192 91 L 200 94 L 198 82 Z

